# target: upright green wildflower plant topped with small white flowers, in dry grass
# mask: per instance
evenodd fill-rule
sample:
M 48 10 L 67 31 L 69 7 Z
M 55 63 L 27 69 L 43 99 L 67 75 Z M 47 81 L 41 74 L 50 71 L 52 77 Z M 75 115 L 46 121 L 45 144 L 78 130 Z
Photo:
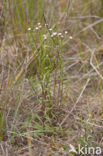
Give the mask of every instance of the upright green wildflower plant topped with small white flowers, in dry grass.
M 43 111 L 43 121 L 51 120 L 50 116 L 53 116 L 52 111 L 55 107 L 53 105 L 55 100 L 59 98 L 59 94 L 61 97 L 59 98 L 59 105 L 62 102 L 62 89 L 63 89 L 63 62 L 62 62 L 62 40 L 68 34 L 67 31 L 64 33 L 56 31 L 56 28 L 53 29 L 49 26 L 49 24 L 44 24 L 42 22 L 38 22 L 34 28 L 28 28 L 29 33 L 32 33 L 33 38 L 35 38 L 36 42 L 41 44 L 38 49 L 37 56 L 34 58 L 34 61 L 28 67 L 28 78 L 30 81 L 31 87 L 35 90 L 35 83 L 33 82 L 33 77 L 38 79 L 38 85 L 41 88 L 40 94 L 42 98 L 40 101 L 42 103 L 42 111 Z M 42 44 L 43 43 L 43 44 Z M 55 47 L 55 48 L 54 48 Z M 33 73 L 31 70 L 35 71 Z M 59 73 L 58 73 L 59 71 Z M 54 82 L 51 80 L 51 75 L 54 77 Z M 60 79 L 60 83 L 56 82 L 56 79 Z M 51 86 L 53 84 L 53 87 Z M 58 90 L 58 94 L 56 92 Z M 60 93 L 59 93 L 60 92 Z M 36 91 L 35 91 L 36 93 Z M 49 123 L 48 126 L 51 126 Z

